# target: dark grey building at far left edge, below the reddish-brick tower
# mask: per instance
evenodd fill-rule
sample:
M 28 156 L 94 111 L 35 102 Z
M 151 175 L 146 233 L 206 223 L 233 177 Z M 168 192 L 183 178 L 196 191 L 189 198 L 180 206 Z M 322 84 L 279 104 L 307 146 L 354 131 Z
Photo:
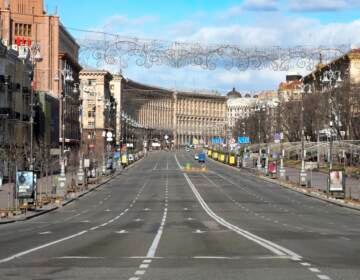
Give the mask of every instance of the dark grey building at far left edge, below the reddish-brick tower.
M 0 42 L 0 177 L 14 178 L 30 156 L 31 64 Z M 36 129 L 39 127 L 36 126 Z M 40 140 L 42 135 L 36 135 Z

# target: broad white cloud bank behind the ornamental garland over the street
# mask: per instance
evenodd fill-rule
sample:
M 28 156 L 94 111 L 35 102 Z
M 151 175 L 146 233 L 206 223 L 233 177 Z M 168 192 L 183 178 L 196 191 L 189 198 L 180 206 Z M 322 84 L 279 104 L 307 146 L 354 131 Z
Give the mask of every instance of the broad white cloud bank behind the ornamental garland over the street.
M 357 5 L 360 2 L 358 0 L 334 1 L 338 5 L 341 1 L 352 5 Z M 249 4 L 249 2 L 245 2 L 244 5 Z M 276 3 L 276 1 L 270 2 Z M 327 0 L 327 2 L 331 1 Z M 292 2 L 292 4 L 294 3 L 295 1 Z M 303 3 L 307 5 L 310 1 L 305 0 Z M 319 7 L 323 2 L 319 0 L 311 3 L 318 3 Z M 334 3 L 333 5 L 336 4 Z M 234 6 L 224 12 L 245 13 L 242 5 Z M 209 14 L 207 16 L 211 17 Z M 248 21 L 247 24 L 234 24 L 234 22 L 225 24 L 216 17 L 213 17 L 212 21 L 205 21 L 205 18 L 206 16 L 203 15 L 202 19 L 198 20 L 190 15 L 188 19 L 165 26 L 161 24 L 159 18 L 153 16 L 134 19 L 115 15 L 108 18 L 99 29 L 103 30 L 105 26 L 108 26 L 106 31 L 111 29 L 111 32 L 122 35 L 161 38 L 171 41 L 191 41 L 203 44 L 229 43 L 244 48 L 253 46 L 329 46 L 360 43 L 360 20 L 347 23 L 322 23 L 316 18 L 304 16 L 287 17 L 281 15 L 280 12 L 270 13 L 261 18 L 257 16 L 256 21 L 254 19 L 253 22 Z M 149 26 L 153 28 L 149 29 Z M 116 68 L 118 67 L 112 67 L 112 69 Z M 304 69 L 294 70 L 305 71 Z M 241 72 L 237 70 L 227 71 L 219 67 L 213 71 L 195 67 L 175 69 L 166 66 L 153 66 L 151 69 L 146 69 L 137 67 L 135 64 L 130 64 L 129 68 L 125 69 L 127 77 L 144 83 L 168 88 L 217 89 L 224 93 L 234 86 L 240 90 L 274 89 L 285 79 L 285 74 L 285 72 L 276 72 L 270 69 Z

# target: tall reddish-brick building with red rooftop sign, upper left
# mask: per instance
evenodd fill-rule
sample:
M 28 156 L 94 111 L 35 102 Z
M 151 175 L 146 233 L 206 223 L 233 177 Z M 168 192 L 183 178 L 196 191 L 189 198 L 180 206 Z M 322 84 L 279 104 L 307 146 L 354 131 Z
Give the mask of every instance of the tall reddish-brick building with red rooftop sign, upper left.
M 81 70 L 78 63 L 79 45 L 61 24 L 58 15 L 48 15 L 44 11 L 43 0 L 1 1 L 0 21 L 0 37 L 9 48 L 18 50 L 20 54 L 36 50 L 36 58 L 41 57 L 35 66 L 33 87 L 36 94 L 49 97 L 40 98 L 40 101 L 58 100 L 59 117 L 47 120 L 45 127 L 51 129 L 47 133 L 52 133 L 53 136 L 47 138 L 51 142 L 45 145 L 58 147 L 59 141 L 62 142 L 64 138 L 66 146 L 72 152 L 67 155 L 68 163 L 77 162 L 80 143 L 80 103 L 79 94 L 76 93 Z M 59 102 L 62 97 L 64 99 Z M 49 102 L 45 102 L 43 107 L 48 104 Z M 64 122 L 64 131 L 58 123 L 61 120 Z M 54 127 L 58 132 L 55 132 Z M 54 137 L 56 135 L 60 137 Z

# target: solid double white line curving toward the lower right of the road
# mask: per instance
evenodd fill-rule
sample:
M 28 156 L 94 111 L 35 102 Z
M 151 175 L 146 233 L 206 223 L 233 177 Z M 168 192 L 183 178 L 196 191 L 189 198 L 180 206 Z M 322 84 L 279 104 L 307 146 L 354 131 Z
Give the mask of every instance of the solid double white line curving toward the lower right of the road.
M 200 193 L 197 191 L 197 189 L 195 188 L 194 184 L 191 182 L 189 176 L 187 174 L 183 174 L 188 185 L 190 186 L 191 190 L 193 191 L 195 197 L 197 198 L 197 200 L 199 201 L 200 205 L 202 206 L 202 208 L 206 211 L 206 213 L 213 218 L 215 221 L 217 221 L 219 224 L 227 227 L 228 229 L 233 230 L 234 232 L 238 233 L 239 235 L 242 235 L 243 237 L 259 244 L 260 246 L 270 250 L 271 252 L 273 252 L 274 254 L 278 255 L 278 256 L 284 256 L 284 255 L 288 255 L 290 257 L 292 257 L 294 260 L 299 260 L 302 257 L 298 254 L 296 254 L 295 252 L 284 248 L 270 240 L 266 240 L 260 236 L 257 236 L 249 231 L 243 230 L 229 222 L 227 222 L 225 219 L 217 216 L 210 208 L 209 206 L 206 204 L 206 202 L 204 201 L 204 199 L 201 197 Z

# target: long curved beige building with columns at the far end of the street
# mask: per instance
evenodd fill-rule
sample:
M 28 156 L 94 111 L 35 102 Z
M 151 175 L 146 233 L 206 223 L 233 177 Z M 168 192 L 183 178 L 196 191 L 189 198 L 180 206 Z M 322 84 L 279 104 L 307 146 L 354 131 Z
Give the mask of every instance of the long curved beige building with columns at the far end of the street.
M 209 143 L 214 136 L 225 136 L 224 96 L 177 92 L 123 79 L 121 106 L 135 124 L 123 127 L 124 141 L 129 141 L 129 130 L 142 140 L 166 142 L 168 136 L 174 145 Z

